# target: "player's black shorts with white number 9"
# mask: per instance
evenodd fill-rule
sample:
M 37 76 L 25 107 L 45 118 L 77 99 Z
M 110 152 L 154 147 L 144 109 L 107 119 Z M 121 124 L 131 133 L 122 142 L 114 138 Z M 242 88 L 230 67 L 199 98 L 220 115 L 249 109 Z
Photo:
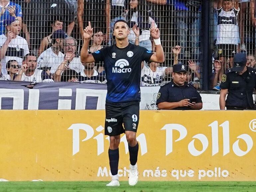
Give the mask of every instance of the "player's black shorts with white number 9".
M 117 136 L 125 131 L 137 132 L 139 112 L 139 101 L 106 102 L 105 135 Z

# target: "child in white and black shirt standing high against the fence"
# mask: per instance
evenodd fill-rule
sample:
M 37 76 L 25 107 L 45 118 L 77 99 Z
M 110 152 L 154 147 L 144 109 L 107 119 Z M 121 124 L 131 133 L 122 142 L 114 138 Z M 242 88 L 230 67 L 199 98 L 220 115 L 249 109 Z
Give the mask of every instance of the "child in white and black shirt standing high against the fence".
M 238 27 L 238 2 L 235 0 L 235 6 L 232 0 L 218 1 L 218 25 L 217 25 L 217 40 L 219 60 L 223 61 L 220 71 L 222 75 L 225 68 L 233 66 L 233 56 L 237 52 L 239 39 Z M 229 64 L 228 64 L 229 59 Z

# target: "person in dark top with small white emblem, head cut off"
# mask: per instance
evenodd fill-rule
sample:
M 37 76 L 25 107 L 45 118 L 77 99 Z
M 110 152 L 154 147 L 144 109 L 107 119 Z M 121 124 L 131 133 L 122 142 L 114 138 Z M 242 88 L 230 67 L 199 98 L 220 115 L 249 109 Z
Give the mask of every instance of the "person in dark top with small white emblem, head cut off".
M 53 17 L 64 22 L 63 30 L 71 34 L 74 28 L 74 16 L 65 0 L 30 0 L 24 5 L 23 21 L 30 33 L 33 50 L 39 48 L 46 34 L 52 33 Z

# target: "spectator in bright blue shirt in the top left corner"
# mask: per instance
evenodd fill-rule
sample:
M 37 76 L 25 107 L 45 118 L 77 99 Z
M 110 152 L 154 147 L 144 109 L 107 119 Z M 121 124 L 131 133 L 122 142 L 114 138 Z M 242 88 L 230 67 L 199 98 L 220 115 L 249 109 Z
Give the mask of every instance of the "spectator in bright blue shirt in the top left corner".
M 10 20 L 10 17 L 14 17 L 22 23 L 22 10 L 21 6 L 9 1 L 9 0 L 0 0 L 0 35 L 4 34 L 5 26 L 3 26 L 4 20 Z

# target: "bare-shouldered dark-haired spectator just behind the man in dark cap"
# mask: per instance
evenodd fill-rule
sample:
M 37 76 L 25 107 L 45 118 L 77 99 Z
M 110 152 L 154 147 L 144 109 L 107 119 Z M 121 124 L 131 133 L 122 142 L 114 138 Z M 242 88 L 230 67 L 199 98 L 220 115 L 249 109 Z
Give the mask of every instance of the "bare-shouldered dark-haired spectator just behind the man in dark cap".
M 44 52 L 44 50 L 47 49 L 47 47 L 52 44 L 53 33 L 57 30 L 63 30 L 63 21 L 56 18 L 52 22 L 51 26 L 52 26 L 52 33 L 46 36 L 44 39 L 42 39 L 41 45 L 38 48 L 38 55 L 41 55 L 41 53 Z

